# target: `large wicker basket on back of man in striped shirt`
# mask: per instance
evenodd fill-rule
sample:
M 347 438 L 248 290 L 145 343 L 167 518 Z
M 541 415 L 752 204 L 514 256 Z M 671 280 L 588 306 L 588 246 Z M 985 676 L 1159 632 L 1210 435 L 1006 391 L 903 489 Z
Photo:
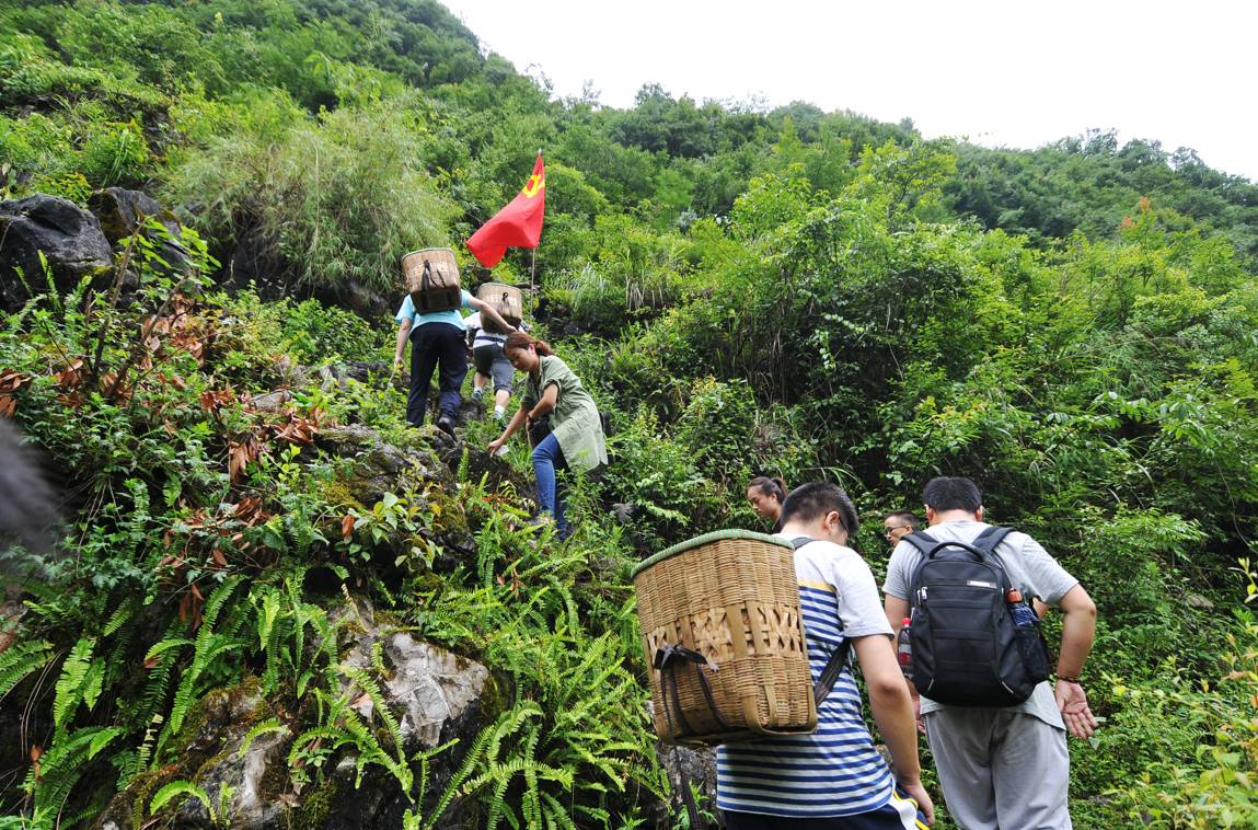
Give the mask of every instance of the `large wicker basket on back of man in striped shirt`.
M 788 542 L 717 531 L 633 572 L 655 733 L 715 744 L 816 728 Z

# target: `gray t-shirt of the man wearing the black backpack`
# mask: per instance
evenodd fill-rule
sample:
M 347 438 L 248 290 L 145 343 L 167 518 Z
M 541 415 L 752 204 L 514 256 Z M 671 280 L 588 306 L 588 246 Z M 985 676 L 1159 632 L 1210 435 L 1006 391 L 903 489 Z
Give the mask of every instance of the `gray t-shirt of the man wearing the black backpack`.
M 926 532 L 940 542 L 970 543 L 986 527 L 989 526 L 984 522 L 962 519 L 960 522 L 932 524 L 926 528 Z M 1040 547 L 1039 542 L 1018 531 L 1009 533 L 1000 546 L 996 547 L 996 557 L 1009 575 L 1009 581 L 1028 600 L 1030 597 L 1039 597 L 1055 607 L 1062 601 L 1062 597 L 1079 582 L 1067 573 L 1066 568 L 1058 565 L 1057 560 L 1049 556 L 1048 551 Z M 896 550 L 891 553 L 891 561 L 887 562 L 887 581 L 883 582 L 883 592 L 898 600 L 908 601 L 910 584 L 921 561 L 922 552 L 910 542 L 897 545 Z M 923 714 L 946 708 L 950 707 L 922 695 Z M 1053 687 L 1047 682 L 1035 687 L 1029 698 L 1009 708 L 1033 714 L 1059 729 L 1066 728 L 1066 724 L 1062 723 L 1062 713 L 1057 709 L 1057 700 L 1053 699 Z

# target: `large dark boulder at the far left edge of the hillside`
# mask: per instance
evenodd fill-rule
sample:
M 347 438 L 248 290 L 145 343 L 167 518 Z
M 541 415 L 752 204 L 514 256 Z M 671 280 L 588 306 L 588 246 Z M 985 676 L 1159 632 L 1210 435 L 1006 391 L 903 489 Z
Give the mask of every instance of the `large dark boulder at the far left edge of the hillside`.
M 30 298 L 18 275 L 19 269 L 34 293 L 47 290 L 40 252 L 58 292 L 69 290 L 83 277 L 107 273 L 113 265 L 113 250 L 101 223 L 74 202 L 45 194 L 0 201 L 0 307 L 4 311 L 16 311 Z

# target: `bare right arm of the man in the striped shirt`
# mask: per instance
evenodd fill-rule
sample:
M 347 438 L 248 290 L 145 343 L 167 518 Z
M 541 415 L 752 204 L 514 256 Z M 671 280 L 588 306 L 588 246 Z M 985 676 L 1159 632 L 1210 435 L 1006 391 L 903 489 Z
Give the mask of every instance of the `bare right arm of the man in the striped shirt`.
M 891 751 L 892 772 L 896 782 L 917 800 L 926 820 L 933 822 L 935 805 L 922 787 L 922 768 L 917 760 L 917 733 L 913 729 L 913 708 L 908 697 L 908 684 L 896 663 L 896 650 L 891 640 L 881 634 L 855 638 L 853 641 L 866 687 L 869 689 L 869 709 L 878 723 L 887 748 Z

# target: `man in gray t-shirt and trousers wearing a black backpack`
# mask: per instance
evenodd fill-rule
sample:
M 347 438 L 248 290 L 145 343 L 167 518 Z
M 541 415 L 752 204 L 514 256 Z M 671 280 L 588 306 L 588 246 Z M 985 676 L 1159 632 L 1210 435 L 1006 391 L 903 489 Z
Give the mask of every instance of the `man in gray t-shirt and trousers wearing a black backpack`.
M 970 479 L 933 478 L 922 499 L 930 528 L 892 552 L 884 609 L 897 633 L 910 620 L 949 812 L 966 830 L 1071 827 L 1066 733 L 1097 724 L 1079 684 L 1096 605 L 1035 540 L 984 523 Z M 1053 685 L 1032 597 L 1063 612 Z

